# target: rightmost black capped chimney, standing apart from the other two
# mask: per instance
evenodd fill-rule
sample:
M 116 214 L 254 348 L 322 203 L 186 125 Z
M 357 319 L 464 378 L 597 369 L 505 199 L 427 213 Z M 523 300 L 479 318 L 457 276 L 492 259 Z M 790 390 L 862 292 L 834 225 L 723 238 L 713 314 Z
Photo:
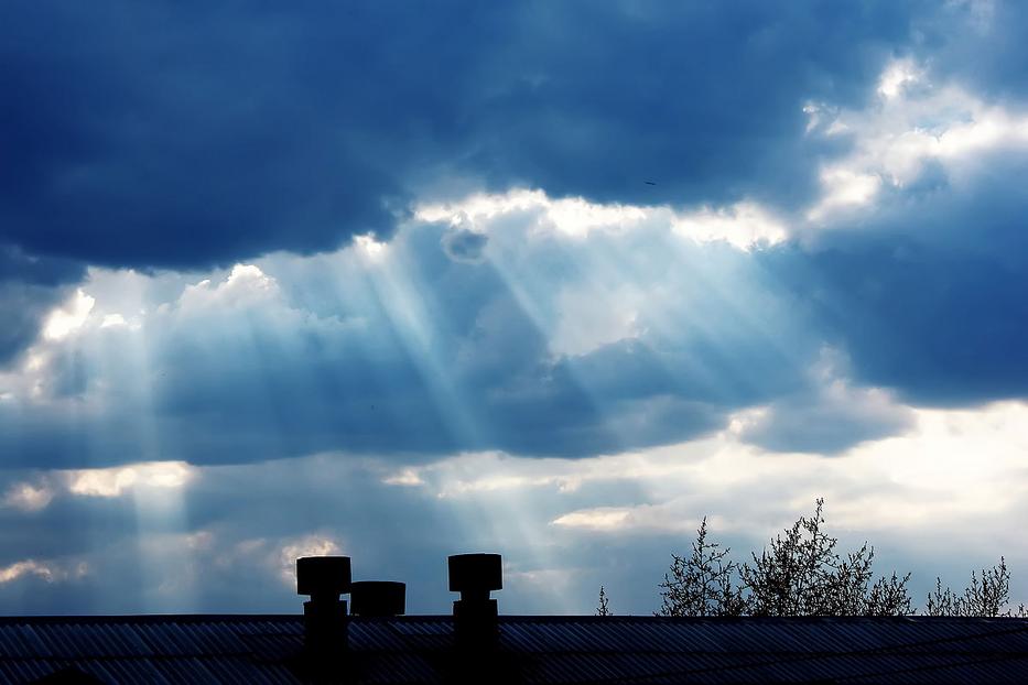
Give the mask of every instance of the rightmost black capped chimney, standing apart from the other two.
M 478 642 L 496 638 L 498 611 L 489 592 L 502 588 L 504 566 L 499 554 L 450 557 L 450 591 L 461 592 L 461 599 L 453 602 L 458 640 Z

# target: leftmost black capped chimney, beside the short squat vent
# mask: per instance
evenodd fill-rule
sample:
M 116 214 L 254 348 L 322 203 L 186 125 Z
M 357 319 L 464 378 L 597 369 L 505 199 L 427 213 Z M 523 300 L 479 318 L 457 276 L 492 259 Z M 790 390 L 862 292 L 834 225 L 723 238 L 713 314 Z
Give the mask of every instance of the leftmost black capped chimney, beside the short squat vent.
M 318 657 L 346 649 L 346 600 L 350 591 L 348 556 L 303 556 L 296 559 L 296 594 L 303 602 L 304 645 Z

